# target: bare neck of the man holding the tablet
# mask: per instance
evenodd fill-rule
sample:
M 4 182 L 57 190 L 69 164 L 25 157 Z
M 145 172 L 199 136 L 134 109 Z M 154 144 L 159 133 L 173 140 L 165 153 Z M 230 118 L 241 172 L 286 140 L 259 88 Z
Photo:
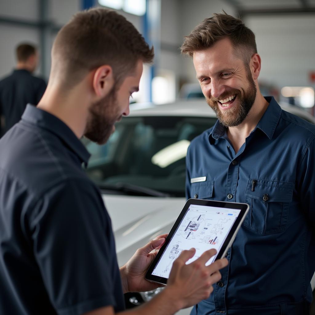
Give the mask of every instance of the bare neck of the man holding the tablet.
M 37 107 L 63 121 L 80 139 L 88 117 L 89 93 L 83 83 L 69 91 L 49 84 Z

